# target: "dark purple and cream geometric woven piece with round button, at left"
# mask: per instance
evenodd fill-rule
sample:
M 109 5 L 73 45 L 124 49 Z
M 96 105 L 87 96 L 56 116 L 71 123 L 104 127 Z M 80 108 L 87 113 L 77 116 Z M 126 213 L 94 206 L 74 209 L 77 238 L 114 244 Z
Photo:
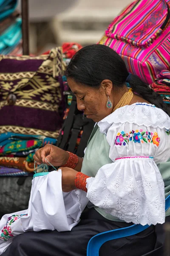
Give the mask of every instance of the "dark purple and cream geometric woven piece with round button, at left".
M 0 56 L 0 133 L 58 137 L 61 71 L 60 47 L 37 57 Z

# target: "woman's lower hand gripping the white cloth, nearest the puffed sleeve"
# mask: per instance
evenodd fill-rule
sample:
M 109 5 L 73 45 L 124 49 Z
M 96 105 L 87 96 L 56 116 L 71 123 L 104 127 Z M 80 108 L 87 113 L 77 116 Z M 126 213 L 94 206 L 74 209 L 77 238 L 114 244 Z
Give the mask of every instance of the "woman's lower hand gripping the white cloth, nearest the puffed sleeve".
M 59 169 L 62 170 L 62 191 L 70 192 L 77 189 L 74 183 L 77 171 L 68 167 L 60 167 Z

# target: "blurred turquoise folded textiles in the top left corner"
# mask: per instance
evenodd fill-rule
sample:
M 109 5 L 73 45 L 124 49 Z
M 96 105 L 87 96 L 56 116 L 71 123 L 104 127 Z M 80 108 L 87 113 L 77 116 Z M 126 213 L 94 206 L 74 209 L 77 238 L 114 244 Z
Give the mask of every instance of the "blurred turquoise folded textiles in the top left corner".
M 0 1 L 0 54 L 22 54 L 22 19 L 17 0 Z

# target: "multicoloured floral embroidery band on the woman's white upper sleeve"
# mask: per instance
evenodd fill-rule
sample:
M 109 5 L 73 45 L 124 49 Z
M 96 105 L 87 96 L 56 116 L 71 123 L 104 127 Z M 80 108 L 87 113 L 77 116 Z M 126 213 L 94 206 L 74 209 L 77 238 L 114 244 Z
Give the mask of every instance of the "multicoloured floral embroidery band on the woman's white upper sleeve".
M 130 141 L 134 143 L 153 143 L 157 147 L 159 146 L 160 138 L 158 137 L 157 132 L 148 132 L 143 131 L 142 129 L 136 131 L 130 131 L 129 133 L 125 133 L 122 131 L 118 132 L 115 140 L 115 145 L 126 145 L 129 144 Z

